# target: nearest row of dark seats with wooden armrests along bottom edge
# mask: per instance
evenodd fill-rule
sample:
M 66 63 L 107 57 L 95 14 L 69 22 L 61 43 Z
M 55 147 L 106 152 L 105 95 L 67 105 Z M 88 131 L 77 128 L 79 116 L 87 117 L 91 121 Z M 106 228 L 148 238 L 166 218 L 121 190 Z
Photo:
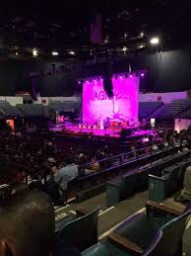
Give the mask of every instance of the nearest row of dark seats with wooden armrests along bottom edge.
M 82 256 L 182 255 L 182 236 L 191 206 L 180 213 L 150 201 L 146 211 L 127 217 L 102 244 L 97 243 L 98 212 L 99 207 L 91 213 L 77 210 L 76 216 L 56 223 L 56 242 L 65 241 Z

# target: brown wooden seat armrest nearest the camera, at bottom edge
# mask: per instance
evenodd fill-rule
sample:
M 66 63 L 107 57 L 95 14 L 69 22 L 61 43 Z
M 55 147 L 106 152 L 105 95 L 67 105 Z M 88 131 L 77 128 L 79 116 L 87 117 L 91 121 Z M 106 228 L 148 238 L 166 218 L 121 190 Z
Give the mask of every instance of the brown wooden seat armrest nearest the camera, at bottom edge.
M 140 255 L 143 253 L 143 249 L 139 245 L 115 232 L 111 232 L 110 234 L 108 234 L 107 238 L 113 243 L 121 246 L 126 251 L 131 251 Z

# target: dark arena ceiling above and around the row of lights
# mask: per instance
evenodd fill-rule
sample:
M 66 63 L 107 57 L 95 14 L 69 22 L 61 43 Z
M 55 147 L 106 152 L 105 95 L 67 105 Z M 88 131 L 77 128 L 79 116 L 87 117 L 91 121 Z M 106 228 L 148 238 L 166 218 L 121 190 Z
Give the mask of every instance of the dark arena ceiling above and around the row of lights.
M 90 40 L 96 13 L 101 14 L 101 43 Z M 152 50 L 153 36 L 159 36 L 162 49 L 189 46 L 190 14 L 187 0 L 2 1 L 0 56 L 32 57 L 34 47 L 43 58 L 52 50 L 62 59 L 128 54 Z

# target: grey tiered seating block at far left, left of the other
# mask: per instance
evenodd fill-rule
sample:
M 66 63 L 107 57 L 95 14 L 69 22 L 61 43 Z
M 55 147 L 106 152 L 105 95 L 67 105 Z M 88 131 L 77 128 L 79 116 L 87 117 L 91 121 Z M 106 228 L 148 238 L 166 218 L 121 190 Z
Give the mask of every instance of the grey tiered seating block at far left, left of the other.
M 41 104 L 18 104 L 17 107 L 26 117 L 41 117 L 43 116 L 43 106 Z

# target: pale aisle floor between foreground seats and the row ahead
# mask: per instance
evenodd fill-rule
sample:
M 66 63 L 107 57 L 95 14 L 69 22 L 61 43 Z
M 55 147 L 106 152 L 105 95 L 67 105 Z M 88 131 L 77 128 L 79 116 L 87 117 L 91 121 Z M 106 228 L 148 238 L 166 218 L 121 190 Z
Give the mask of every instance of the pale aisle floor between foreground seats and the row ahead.
M 100 206 L 100 213 L 98 218 L 98 236 L 100 239 L 104 238 L 112 227 L 120 223 L 129 215 L 136 213 L 146 205 L 148 201 L 148 192 L 142 192 L 133 197 L 120 202 L 118 205 L 111 208 L 106 208 L 106 194 L 102 193 L 95 198 L 82 202 L 80 204 L 73 203 L 63 208 L 58 208 L 56 213 L 56 220 L 60 220 L 69 214 L 75 214 L 75 210 L 83 207 L 92 211 L 96 206 Z

